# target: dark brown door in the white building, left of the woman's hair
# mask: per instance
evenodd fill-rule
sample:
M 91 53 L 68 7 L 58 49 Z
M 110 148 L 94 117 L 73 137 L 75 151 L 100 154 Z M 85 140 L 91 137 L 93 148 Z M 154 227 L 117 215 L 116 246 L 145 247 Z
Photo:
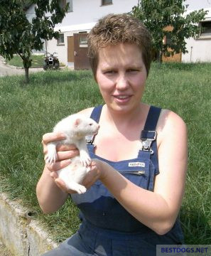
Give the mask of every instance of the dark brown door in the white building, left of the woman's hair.
M 87 33 L 75 33 L 74 36 L 74 69 L 90 69 L 87 57 Z

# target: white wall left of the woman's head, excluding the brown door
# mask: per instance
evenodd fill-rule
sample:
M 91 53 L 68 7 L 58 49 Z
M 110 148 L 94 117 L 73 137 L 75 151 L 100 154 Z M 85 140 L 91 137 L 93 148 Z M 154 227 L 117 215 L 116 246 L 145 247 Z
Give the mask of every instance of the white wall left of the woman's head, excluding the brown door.
M 65 42 L 63 45 L 58 45 L 55 39 L 48 41 L 48 52 L 58 53 L 60 62 L 68 65 L 67 36 L 72 36 L 73 33 L 82 31 L 89 32 L 102 16 L 110 13 L 120 14 L 129 12 L 136 4 L 138 4 L 138 0 L 113 0 L 113 4 L 107 6 L 101 6 L 101 0 L 72 0 L 73 11 L 66 14 L 63 23 L 55 26 L 55 30 L 60 30 L 64 33 Z M 70 66 L 72 64 L 69 63 Z

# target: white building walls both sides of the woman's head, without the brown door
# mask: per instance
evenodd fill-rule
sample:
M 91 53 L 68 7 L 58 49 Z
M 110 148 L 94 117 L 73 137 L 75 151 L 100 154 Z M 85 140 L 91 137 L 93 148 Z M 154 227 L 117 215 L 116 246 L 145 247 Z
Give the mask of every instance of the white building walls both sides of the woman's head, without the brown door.
M 101 6 L 101 0 L 72 0 L 73 11 L 66 14 L 65 18 L 63 19 L 63 23 L 55 26 L 55 30 L 60 30 L 61 33 L 64 33 L 65 42 L 63 45 L 58 45 L 57 40 L 55 39 L 48 41 L 48 52 L 58 53 L 60 62 L 64 63 L 65 65 L 73 66 L 73 63 L 67 63 L 67 36 L 73 36 L 73 33 L 79 33 L 82 31 L 89 32 L 97 20 L 102 16 L 105 16 L 109 13 L 118 14 L 129 12 L 137 3 L 138 0 L 113 0 L 113 4 Z M 186 4 L 190 3 L 187 1 Z M 190 6 L 188 12 L 194 11 L 190 10 Z M 200 8 L 203 8 L 203 6 L 200 6 Z M 207 14 L 206 19 L 211 20 L 211 8 L 207 10 L 210 12 Z M 206 39 L 190 38 L 186 42 L 188 53 L 164 58 L 164 61 L 211 61 L 211 37 Z

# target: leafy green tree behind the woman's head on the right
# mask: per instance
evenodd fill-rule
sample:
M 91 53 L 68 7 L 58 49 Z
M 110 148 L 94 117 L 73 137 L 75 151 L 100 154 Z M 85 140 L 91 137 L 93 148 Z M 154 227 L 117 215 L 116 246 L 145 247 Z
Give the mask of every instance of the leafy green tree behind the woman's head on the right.
M 200 27 L 198 23 L 205 18 L 207 11 L 200 9 L 185 15 L 188 5 L 185 0 L 139 0 L 131 14 L 139 18 L 152 36 L 153 49 L 156 50 L 157 60 L 162 62 L 162 56 L 175 53 L 188 53 L 185 39 L 198 37 Z M 166 27 L 171 26 L 171 31 Z M 169 38 L 166 43 L 164 38 Z

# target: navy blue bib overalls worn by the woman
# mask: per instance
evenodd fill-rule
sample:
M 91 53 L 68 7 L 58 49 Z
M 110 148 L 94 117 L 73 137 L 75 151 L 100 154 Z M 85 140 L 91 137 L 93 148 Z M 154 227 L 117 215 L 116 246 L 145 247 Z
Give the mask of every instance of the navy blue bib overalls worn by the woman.
M 91 114 L 96 122 L 101 110 L 102 105 L 95 107 Z M 107 162 L 137 186 L 153 191 L 154 178 L 159 174 L 155 130 L 160 112 L 157 107 L 150 108 L 141 132 L 143 148 L 136 159 L 118 162 L 102 159 L 94 154 L 94 139 L 87 144 L 91 158 Z M 108 150 L 109 146 L 112 145 L 108 145 Z M 45 256 L 156 256 L 156 245 L 183 242 L 178 219 L 166 235 L 158 235 L 128 213 L 100 181 L 86 193 L 71 197 L 80 208 L 82 224 L 75 235 Z

